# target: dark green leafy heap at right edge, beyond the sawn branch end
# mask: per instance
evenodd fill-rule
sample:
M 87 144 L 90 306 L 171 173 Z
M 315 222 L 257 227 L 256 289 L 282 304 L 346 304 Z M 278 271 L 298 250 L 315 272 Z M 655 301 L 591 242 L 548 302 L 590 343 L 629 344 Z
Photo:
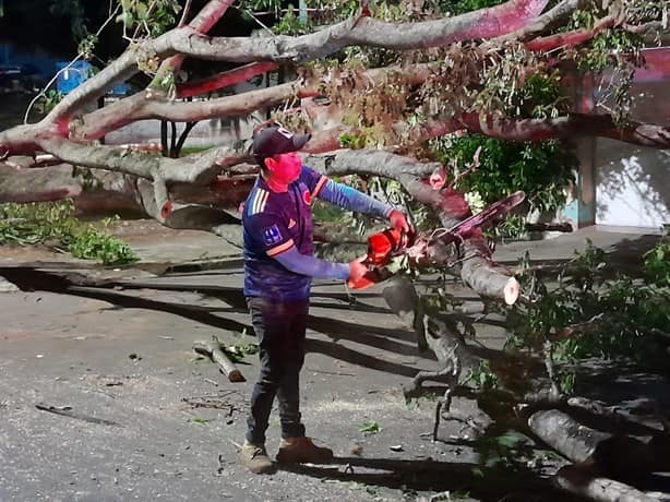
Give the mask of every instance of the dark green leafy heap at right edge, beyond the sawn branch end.
M 540 354 L 549 342 L 557 362 L 653 358 L 650 334 L 670 325 L 667 246 L 659 242 L 645 255 L 647 282 L 621 273 L 590 242 L 561 267 L 557 285 L 529 267 L 526 256 L 518 278 L 528 301 L 506 311 L 509 346 Z M 571 373 L 558 378 L 563 391 L 574 386 Z

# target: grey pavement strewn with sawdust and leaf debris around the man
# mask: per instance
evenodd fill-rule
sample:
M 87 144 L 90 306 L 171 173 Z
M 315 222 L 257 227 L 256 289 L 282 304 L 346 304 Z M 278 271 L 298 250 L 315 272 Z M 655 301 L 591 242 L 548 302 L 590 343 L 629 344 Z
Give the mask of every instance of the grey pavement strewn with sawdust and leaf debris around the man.
M 491 473 L 484 480 L 477 473 L 486 452 L 463 423 L 443 421 L 432 442 L 434 396 L 408 403 L 402 387 L 438 361 L 417 349 L 379 286 L 351 298 L 326 282 L 312 295 L 301 402 L 308 433 L 336 459 L 248 474 L 236 455 L 255 357 L 238 364 L 247 381 L 230 383 L 191 350 L 213 335 L 229 346 L 255 340 L 240 250 L 151 220 L 116 232 L 139 263 L 105 268 L 45 249 L 0 249 L 0 276 L 21 287 L 4 283 L 9 291 L 0 294 L 0 501 L 499 500 L 510 492 L 569 500 L 548 488 L 555 461 L 535 477 Z M 585 239 L 631 256 L 658 236 L 591 227 L 509 243 L 495 258 L 513 264 L 528 250 L 533 259 L 569 260 Z M 59 277 L 72 273 L 117 284 L 64 286 Z M 495 323 L 478 331 L 483 343 L 504 337 Z M 271 453 L 278 432 L 274 410 Z

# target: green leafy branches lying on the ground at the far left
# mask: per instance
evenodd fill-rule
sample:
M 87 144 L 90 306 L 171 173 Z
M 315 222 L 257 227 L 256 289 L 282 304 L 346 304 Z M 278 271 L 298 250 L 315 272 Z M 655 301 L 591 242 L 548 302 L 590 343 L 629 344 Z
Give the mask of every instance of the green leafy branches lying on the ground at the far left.
M 68 249 L 73 256 L 105 265 L 131 263 L 137 256 L 128 244 L 75 217 L 74 203 L 0 204 L 0 244 L 46 244 Z M 109 226 L 112 220 L 105 222 Z

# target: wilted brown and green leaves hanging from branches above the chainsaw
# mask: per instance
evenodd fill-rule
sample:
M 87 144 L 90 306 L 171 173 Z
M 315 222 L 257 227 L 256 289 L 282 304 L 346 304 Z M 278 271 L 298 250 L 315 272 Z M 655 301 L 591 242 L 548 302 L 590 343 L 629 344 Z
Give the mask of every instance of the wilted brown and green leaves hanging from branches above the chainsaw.
M 349 61 L 339 70 L 337 88 L 328 94 L 334 104 L 345 109 L 343 122 L 351 127 L 339 138 L 343 147 L 380 148 L 390 144 L 410 143 L 409 135 L 398 138 L 390 124 L 399 117 L 406 117 L 410 128 L 420 128 L 428 117 L 450 116 L 463 111 L 478 112 L 500 109 L 510 117 L 553 118 L 567 109 L 569 101 L 561 93 L 561 80 L 557 72 L 533 73 L 522 77 L 524 53 L 518 60 L 507 61 L 505 55 L 496 53 L 491 59 L 496 63 L 483 62 L 479 93 L 462 96 L 462 81 L 471 80 L 472 58 L 481 55 L 474 49 L 454 49 L 444 55 L 445 59 L 434 63 L 432 77 L 418 89 L 403 83 L 402 75 L 390 75 L 383 85 L 370 85 L 363 79 L 364 61 Z M 315 74 L 334 70 L 326 65 L 314 65 Z M 320 73 L 321 72 L 321 73 Z M 524 82 L 521 87 L 517 80 Z M 460 93 L 460 94 L 458 94 Z M 458 95 L 459 105 L 454 105 Z M 480 206 L 498 201 L 516 190 L 528 195 L 530 208 L 555 211 L 565 201 L 564 189 L 574 179 L 578 160 L 573 151 L 559 141 L 519 143 L 501 141 L 481 134 L 464 138 L 444 136 L 429 141 L 428 156 L 448 166 L 452 180 L 469 168 L 479 147 L 481 165 L 468 176 L 459 179 L 455 188 L 468 194 L 468 200 L 478 200 Z M 419 153 L 419 156 L 421 153 Z M 414 205 L 405 202 L 406 206 Z M 476 210 L 477 207 L 475 207 Z M 417 220 L 432 223 L 431 215 L 423 207 L 411 207 Z M 521 220 L 511 222 L 503 234 L 518 235 L 523 230 Z

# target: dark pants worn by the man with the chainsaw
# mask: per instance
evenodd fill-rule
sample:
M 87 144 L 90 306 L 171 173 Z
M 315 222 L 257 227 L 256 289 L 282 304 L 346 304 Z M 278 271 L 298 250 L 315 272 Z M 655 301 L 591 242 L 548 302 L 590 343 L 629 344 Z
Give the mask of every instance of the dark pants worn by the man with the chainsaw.
M 309 300 L 280 302 L 248 298 L 251 323 L 259 338 L 261 374 L 251 394 L 247 441 L 265 443 L 265 430 L 275 399 L 279 402 L 282 438 L 304 435 L 300 422 L 300 370 L 304 361 L 304 332 Z

